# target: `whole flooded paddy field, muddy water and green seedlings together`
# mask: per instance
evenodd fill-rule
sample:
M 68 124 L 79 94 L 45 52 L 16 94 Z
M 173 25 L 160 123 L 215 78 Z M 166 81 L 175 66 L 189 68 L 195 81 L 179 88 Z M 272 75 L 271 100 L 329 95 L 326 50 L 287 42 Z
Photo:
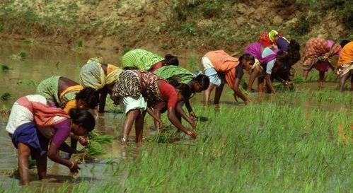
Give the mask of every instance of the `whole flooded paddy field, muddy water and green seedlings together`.
M 49 76 L 78 81 L 87 59 L 102 56 L 8 42 L 0 44 L 0 50 L 0 64 L 9 67 L 0 72 L 0 95 L 11 95 L 0 99 L 1 110 L 35 93 L 36 83 Z M 103 55 L 118 66 L 120 57 Z M 191 100 L 199 117 L 196 140 L 183 134 L 177 141 L 153 140 L 156 131 L 146 116 L 146 140 L 129 146 L 118 142 L 124 115 L 110 103 L 96 125 L 100 133 L 115 136 L 104 146 L 107 153 L 81 164 L 77 177 L 48 160 L 47 179 L 37 180 L 33 170 L 27 187 L 21 187 L 12 172 L 16 148 L 5 130 L 7 116 L 2 115 L 0 192 L 352 192 L 352 93 L 338 92 L 332 82 L 323 88 L 316 82 L 296 88 L 275 95 L 251 93 L 248 106 L 235 102 L 228 88 L 219 107 L 203 107 L 202 94 L 197 94 Z M 166 115 L 163 122 L 169 124 Z M 134 131 L 130 137 L 134 139 Z

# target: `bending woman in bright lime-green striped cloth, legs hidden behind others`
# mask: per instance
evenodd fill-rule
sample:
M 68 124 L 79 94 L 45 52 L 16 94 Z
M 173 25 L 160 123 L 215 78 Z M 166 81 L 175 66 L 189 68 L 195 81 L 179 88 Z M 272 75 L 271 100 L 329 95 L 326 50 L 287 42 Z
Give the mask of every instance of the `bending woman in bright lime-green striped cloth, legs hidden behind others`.
M 122 56 L 122 69 L 155 71 L 165 65 L 179 66 L 178 57 L 166 54 L 163 58 L 145 49 L 132 49 Z

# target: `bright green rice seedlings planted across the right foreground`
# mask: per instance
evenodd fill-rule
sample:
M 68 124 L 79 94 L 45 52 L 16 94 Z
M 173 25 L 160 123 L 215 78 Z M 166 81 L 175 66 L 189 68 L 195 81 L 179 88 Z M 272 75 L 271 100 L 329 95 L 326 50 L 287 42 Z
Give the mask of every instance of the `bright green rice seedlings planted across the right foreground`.
M 72 192 L 349 192 L 352 113 L 272 102 L 195 107 L 197 140 L 146 142 L 113 175 Z M 342 130 L 342 131 L 340 131 Z M 343 135 L 345 136 L 342 137 Z M 135 148 L 133 145 L 127 148 Z M 288 191 L 287 191 L 288 190 Z

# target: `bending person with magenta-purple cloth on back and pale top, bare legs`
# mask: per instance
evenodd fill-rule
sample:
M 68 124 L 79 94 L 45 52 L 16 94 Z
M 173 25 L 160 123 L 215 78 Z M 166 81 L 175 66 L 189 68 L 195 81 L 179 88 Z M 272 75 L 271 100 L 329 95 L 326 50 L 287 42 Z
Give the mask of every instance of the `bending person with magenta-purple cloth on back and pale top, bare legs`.
M 258 92 L 264 92 L 264 81 L 270 88 L 272 93 L 276 90 L 272 86 L 272 72 L 277 72 L 282 66 L 288 64 L 288 54 L 280 49 L 272 49 L 271 47 L 263 47 L 261 43 L 254 42 L 245 48 L 246 54 L 255 57 L 256 62 L 250 74 L 248 83 L 248 92 L 251 91 L 255 78 L 257 78 Z

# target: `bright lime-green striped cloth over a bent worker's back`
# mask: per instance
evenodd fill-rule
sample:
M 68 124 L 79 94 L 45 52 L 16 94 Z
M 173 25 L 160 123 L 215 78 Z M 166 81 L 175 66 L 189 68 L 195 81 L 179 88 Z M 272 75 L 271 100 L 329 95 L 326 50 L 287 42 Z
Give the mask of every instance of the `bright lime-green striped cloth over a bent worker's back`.
M 122 56 L 122 69 L 148 71 L 164 58 L 145 49 L 132 49 Z

